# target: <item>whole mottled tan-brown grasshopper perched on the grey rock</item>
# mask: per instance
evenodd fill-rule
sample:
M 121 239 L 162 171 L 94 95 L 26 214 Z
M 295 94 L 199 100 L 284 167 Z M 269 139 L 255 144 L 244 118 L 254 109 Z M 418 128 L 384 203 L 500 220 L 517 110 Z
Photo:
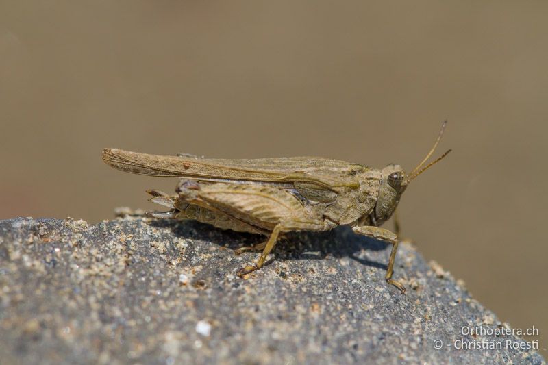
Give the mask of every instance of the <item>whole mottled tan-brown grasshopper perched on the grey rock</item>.
M 432 149 L 409 175 L 397 164 L 377 170 L 316 157 L 227 160 L 104 149 L 103 161 L 128 173 L 182 177 L 177 195 L 147 190 L 150 201 L 170 208 L 169 212 L 151 213 L 153 217 L 194 219 L 222 229 L 269 236 L 264 243 L 237 251 L 262 249 L 257 263 L 241 268 L 240 276 L 263 266 L 282 232 L 327 231 L 349 225 L 357 234 L 393 245 L 386 281 L 405 292 L 403 285 L 392 279 L 399 229 L 396 225 L 394 234 L 378 226 L 392 216 L 410 181 L 451 151 L 423 167 L 438 146 L 446 123 Z

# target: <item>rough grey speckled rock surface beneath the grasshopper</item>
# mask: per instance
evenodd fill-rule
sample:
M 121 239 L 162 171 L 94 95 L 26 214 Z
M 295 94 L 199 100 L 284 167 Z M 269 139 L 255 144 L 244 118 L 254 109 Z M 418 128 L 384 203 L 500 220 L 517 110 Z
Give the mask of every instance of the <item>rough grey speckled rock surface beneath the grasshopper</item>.
M 195 222 L 118 218 L 0 221 L 3 364 L 542 364 L 462 282 L 401 244 L 349 229 L 288 234 L 275 260 L 247 279 L 236 270 L 262 238 Z M 502 349 L 455 349 L 456 340 Z M 434 349 L 434 340 L 443 341 Z

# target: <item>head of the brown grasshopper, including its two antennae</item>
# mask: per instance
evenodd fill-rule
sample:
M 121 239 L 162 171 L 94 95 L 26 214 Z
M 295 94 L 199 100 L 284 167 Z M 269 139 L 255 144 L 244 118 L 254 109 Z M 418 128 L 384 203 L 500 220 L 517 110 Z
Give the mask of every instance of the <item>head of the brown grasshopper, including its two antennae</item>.
M 425 162 L 436 150 L 436 147 L 440 142 L 446 124 L 447 121 L 443 122 L 440 134 L 438 135 L 438 139 L 436 139 L 436 142 L 434 143 L 434 147 L 430 149 L 426 157 L 421 161 L 418 166 L 416 166 L 416 168 L 413 169 L 413 171 L 411 171 L 409 175 L 403 172 L 403 168 L 401 168 L 401 166 L 395 164 L 390 164 L 382 169 L 382 179 L 379 186 L 379 196 L 377 197 L 377 204 L 375 205 L 375 211 L 373 212 L 373 216 L 375 218 L 373 223 L 376 223 L 376 225 L 381 225 L 384 221 L 388 220 L 388 218 L 390 218 L 390 216 L 392 216 L 392 214 L 396 210 L 401 194 L 403 193 L 403 191 L 406 190 L 410 181 L 412 181 L 412 179 L 414 179 L 415 177 L 421 175 L 421 173 L 426 171 L 427 168 L 429 168 L 442 158 L 445 158 L 447 153 L 451 152 L 451 150 L 449 149 L 439 158 L 436 158 L 436 160 L 430 162 L 423 167 Z

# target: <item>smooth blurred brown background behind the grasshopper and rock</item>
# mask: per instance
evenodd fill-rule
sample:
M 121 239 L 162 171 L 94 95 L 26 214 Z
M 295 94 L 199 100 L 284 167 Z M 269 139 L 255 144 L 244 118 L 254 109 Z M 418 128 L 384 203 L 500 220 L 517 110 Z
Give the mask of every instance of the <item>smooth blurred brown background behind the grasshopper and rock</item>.
M 0 0 L 0 218 L 151 208 L 103 147 L 410 171 L 405 236 L 546 347 L 546 1 Z M 388 227 L 391 227 L 388 226 Z M 531 338 L 536 339 L 536 338 Z M 543 351 L 545 354 L 545 351 Z

